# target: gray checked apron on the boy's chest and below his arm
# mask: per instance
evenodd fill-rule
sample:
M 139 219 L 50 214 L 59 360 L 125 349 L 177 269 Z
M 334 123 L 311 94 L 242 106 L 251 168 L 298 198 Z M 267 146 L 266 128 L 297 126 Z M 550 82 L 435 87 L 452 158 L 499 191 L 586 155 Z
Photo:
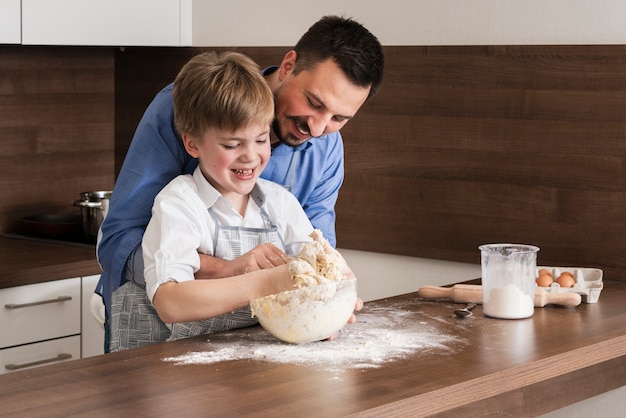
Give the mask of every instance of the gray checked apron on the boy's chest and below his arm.
M 219 224 L 213 211 L 210 208 L 208 210 L 215 222 L 213 236 L 215 257 L 232 260 L 263 243 L 272 243 L 285 250 L 278 229 L 262 207 L 261 216 L 265 221 L 265 228 L 223 226 Z M 246 306 L 210 319 L 175 323 L 170 329 L 161 321 L 148 299 L 145 285 L 127 282 L 113 293 L 111 301 L 110 351 L 242 328 L 257 323 L 257 319 L 252 317 L 250 307 Z

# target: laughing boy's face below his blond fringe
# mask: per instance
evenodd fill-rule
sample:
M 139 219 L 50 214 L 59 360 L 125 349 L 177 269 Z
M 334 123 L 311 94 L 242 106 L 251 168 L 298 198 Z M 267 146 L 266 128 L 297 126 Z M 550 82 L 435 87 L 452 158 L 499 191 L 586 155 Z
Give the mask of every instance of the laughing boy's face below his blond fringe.
M 268 124 L 255 123 L 234 132 L 210 128 L 200 140 L 183 135 L 183 142 L 204 177 L 228 199 L 252 191 L 270 157 L 269 131 Z

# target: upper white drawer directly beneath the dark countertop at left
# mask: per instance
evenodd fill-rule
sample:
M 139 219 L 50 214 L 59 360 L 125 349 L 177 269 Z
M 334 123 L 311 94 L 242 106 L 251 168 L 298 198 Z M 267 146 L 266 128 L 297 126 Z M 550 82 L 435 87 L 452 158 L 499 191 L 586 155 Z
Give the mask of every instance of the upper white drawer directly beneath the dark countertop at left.
M 0 348 L 80 334 L 80 277 L 0 290 Z

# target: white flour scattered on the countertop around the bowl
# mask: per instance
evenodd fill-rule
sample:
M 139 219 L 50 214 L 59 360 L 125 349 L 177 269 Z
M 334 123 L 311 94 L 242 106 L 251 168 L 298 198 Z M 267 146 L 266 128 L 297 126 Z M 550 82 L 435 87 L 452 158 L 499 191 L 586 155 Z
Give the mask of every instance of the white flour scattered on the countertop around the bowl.
M 229 333 L 220 334 L 220 340 Z M 369 309 L 357 322 L 344 327 L 337 339 L 293 345 L 265 331 L 232 334 L 232 341 L 211 341 L 206 351 L 164 358 L 175 364 L 213 364 L 232 360 L 262 360 L 307 365 L 317 369 L 374 368 L 414 352 L 450 354 L 459 345 L 457 337 L 441 334 L 419 314 L 395 309 Z M 247 338 L 247 339 L 245 339 Z

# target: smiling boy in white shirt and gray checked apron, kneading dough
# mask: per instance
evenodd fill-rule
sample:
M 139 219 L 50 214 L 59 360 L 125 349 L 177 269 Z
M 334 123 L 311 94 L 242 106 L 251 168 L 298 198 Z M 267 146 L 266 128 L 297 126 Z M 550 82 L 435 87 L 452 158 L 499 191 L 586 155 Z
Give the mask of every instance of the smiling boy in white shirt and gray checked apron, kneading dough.
M 271 243 L 293 256 L 311 241 L 296 197 L 259 178 L 274 102 L 256 64 L 234 52 L 200 54 L 176 77 L 173 97 L 176 129 L 198 167 L 155 199 L 142 241 L 146 287 L 127 282 L 114 293 L 111 351 L 256 324 L 249 302 L 291 289 L 288 264 L 195 280 L 199 253 L 231 260 Z

